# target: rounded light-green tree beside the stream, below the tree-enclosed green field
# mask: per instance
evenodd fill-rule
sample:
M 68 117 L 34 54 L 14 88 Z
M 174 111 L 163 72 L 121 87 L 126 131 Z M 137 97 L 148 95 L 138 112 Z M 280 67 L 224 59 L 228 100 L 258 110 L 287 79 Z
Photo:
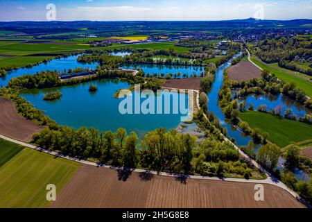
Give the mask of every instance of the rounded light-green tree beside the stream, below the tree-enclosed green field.
M 275 144 L 266 144 L 259 148 L 258 161 L 268 169 L 275 169 L 281 155 L 281 148 Z

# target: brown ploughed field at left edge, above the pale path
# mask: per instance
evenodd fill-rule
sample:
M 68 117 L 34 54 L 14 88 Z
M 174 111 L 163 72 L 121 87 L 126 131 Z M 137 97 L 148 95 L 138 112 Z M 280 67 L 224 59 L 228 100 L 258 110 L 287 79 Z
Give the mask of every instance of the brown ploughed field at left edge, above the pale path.
M 24 142 L 31 141 L 33 134 L 43 128 L 21 117 L 12 101 L 0 97 L 0 133 Z

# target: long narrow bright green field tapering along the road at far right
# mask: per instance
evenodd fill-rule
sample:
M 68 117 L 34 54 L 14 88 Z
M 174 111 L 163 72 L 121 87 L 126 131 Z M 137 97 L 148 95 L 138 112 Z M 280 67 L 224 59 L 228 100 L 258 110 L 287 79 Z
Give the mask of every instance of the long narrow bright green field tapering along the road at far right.
M 294 82 L 297 84 L 297 87 L 304 90 L 307 96 L 312 97 L 312 83 L 308 80 L 304 80 L 302 78 L 297 78 L 296 76 L 292 76 L 289 74 L 284 73 L 283 71 L 279 71 L 277 69 L 273 69 L 272 67 L 268 67 L 267 65 L 264 65 L 262 62 L 259 62 L 255 58 L 251 58 L 252 62 L 257 64 L 262 69 L 268 69 L 270 73 L 273 73 L 279 78 L 280 80 L 283 80 L 286 83 Z

